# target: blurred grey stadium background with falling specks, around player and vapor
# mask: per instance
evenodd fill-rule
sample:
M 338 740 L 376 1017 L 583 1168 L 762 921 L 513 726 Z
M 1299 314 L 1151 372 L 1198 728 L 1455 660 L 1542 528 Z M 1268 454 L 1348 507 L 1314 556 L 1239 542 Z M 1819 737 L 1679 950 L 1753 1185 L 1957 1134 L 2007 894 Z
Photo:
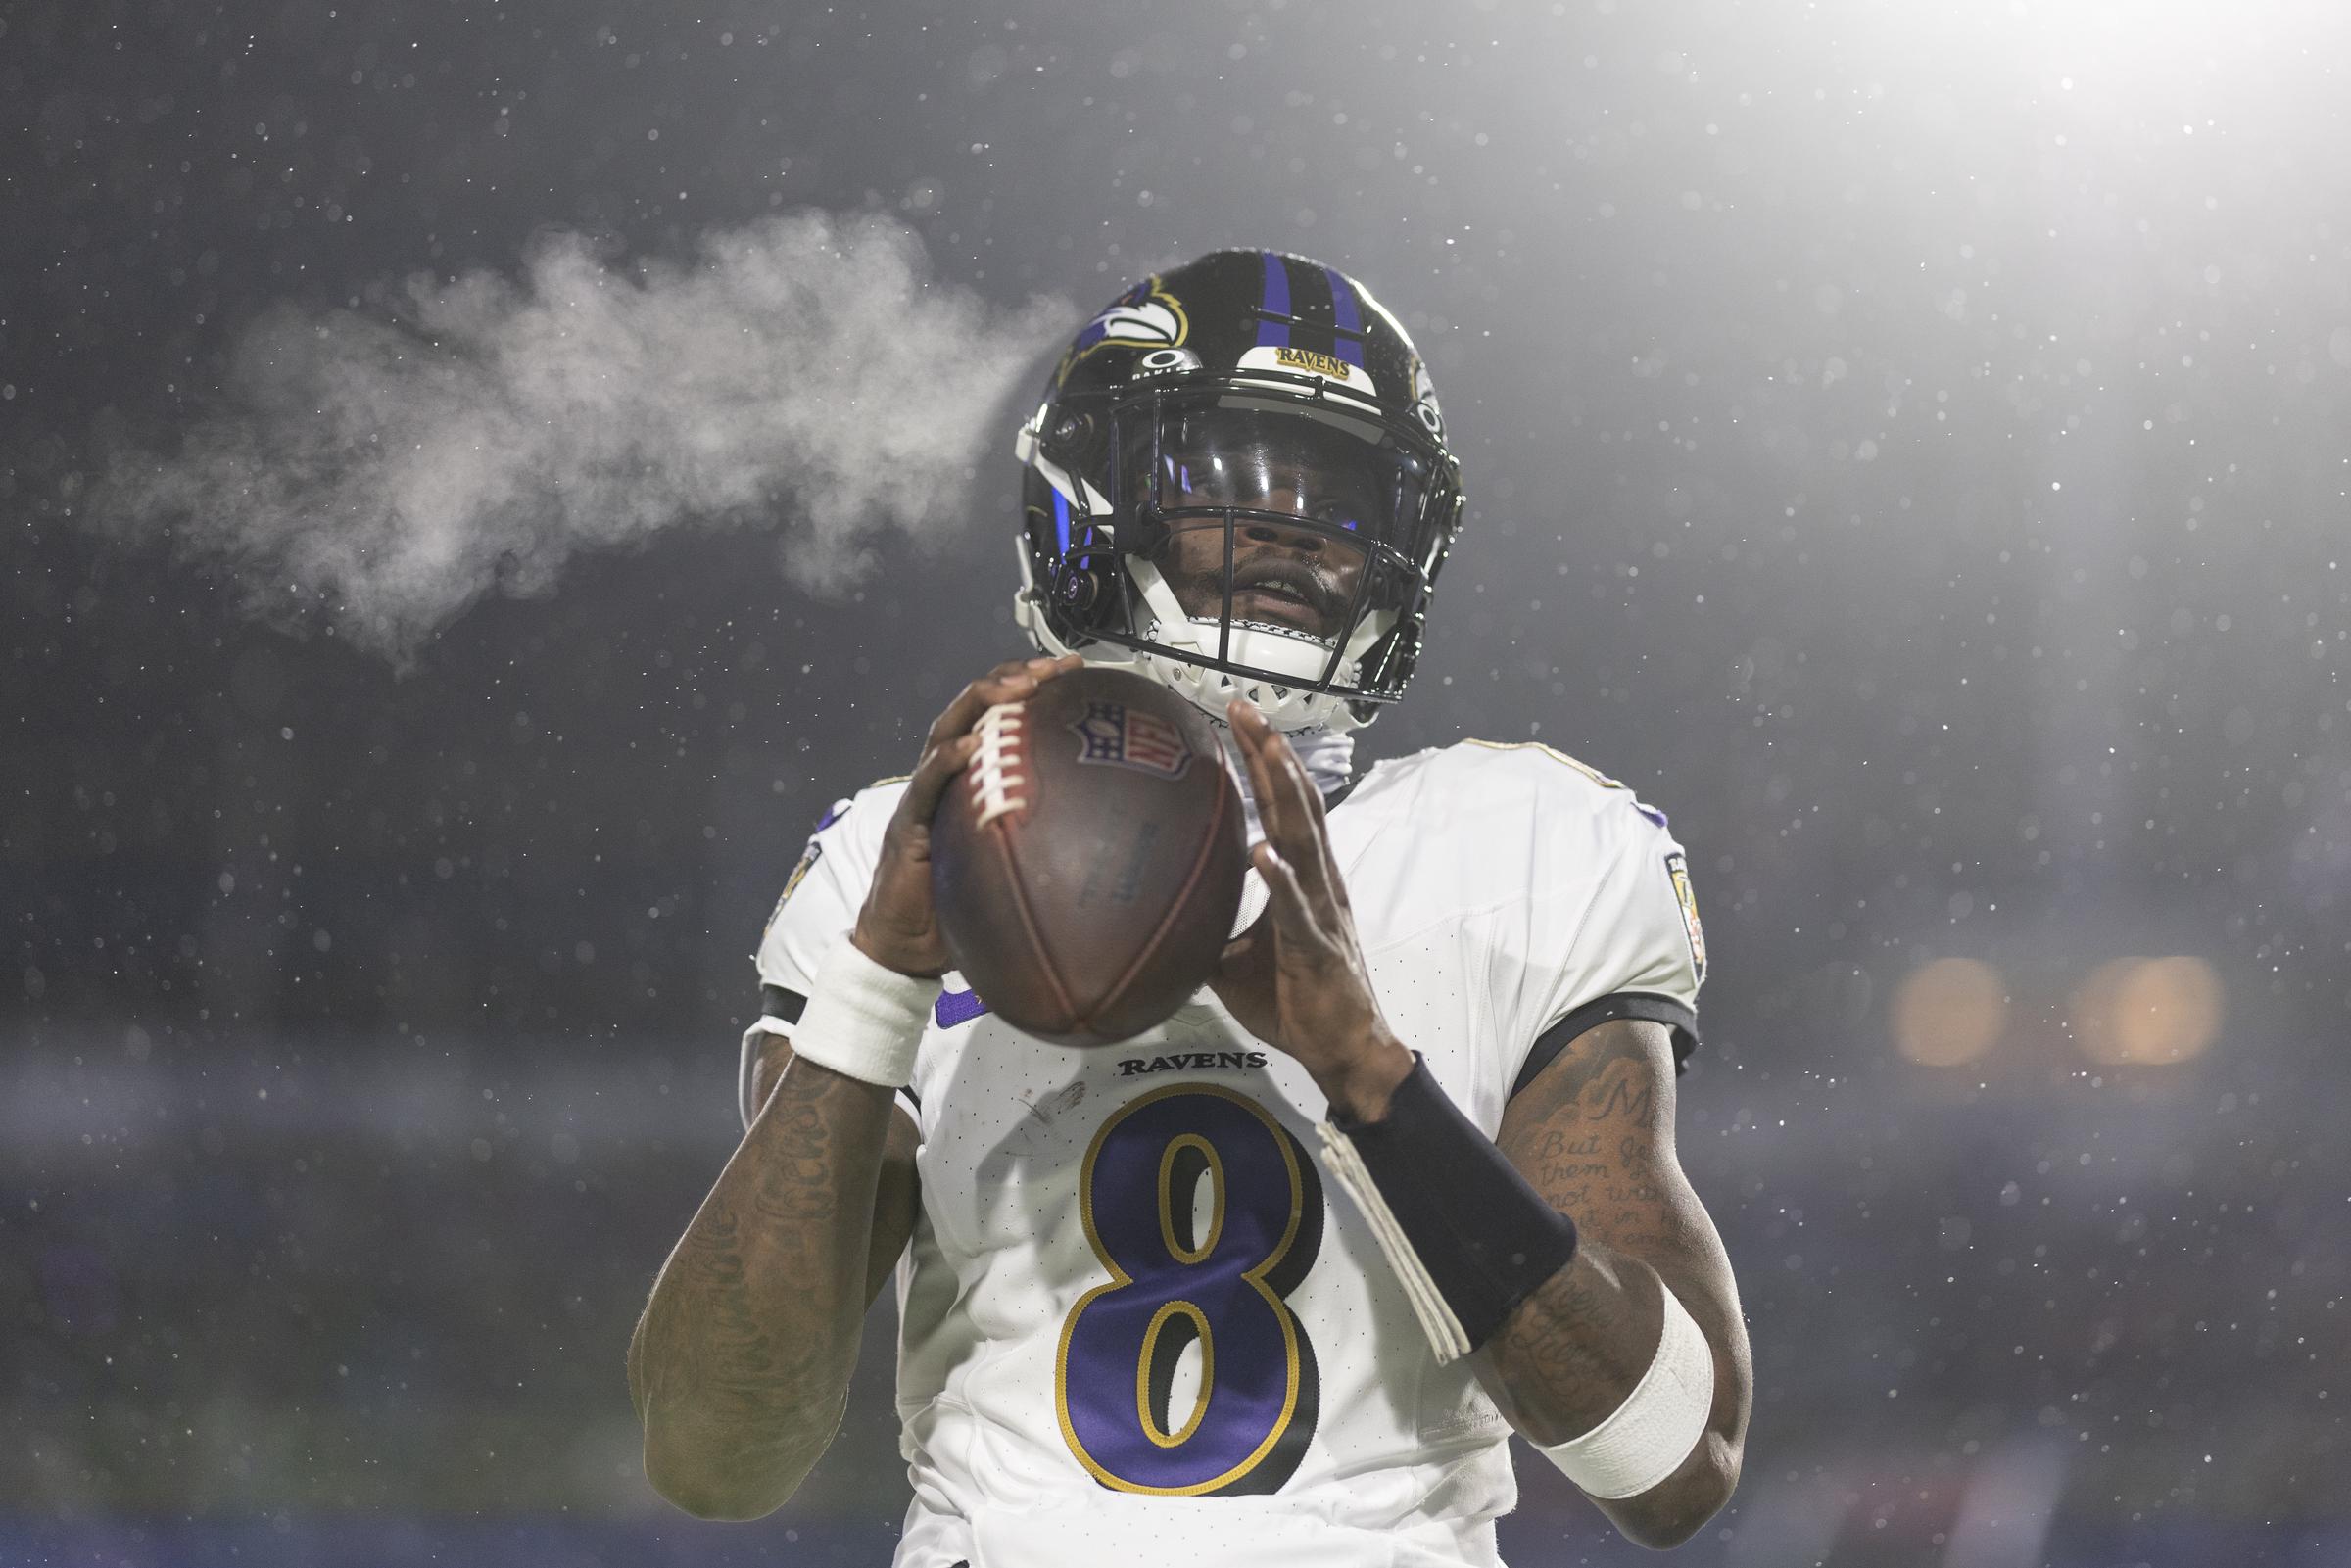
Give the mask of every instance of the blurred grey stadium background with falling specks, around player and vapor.
M 1011 458 L 828 592 L 679 531 L 402 672 L 82 527 L 273 301 L 799 207 L 1002 308 L 1284 244 L 1418 334 L 1472 522 L 1361 755 L 1627 778 L 1712 938 L 1759 1387 L 1686 1561 L 2351 1563 L 2346 31 L 7 7 L 0 1563 L 886 1561 L 886 1305 L 757 1526 L 649 1493 L 621 1352 L 809 820 L 1011 649 Z M 1641 1556 L 1521 1474 L 1514 1563 Z

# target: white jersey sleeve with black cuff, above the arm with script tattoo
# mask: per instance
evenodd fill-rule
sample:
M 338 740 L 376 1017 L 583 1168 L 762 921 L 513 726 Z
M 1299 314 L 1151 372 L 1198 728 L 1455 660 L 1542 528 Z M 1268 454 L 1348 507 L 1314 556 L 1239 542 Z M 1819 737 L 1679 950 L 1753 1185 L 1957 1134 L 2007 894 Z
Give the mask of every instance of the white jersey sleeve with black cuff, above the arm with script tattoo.
M 1535 903 L 1531 961 L 1514 1009 L 1512 1093 L 1533 1084 L 1570 1039 L 1610 1018 L 1667 1025 L 1679 1072 L 1697 1048 L 1697 987 L 1707 976 L 1688 856 L 1665 816 L 1629 790 L 1606 802 L 1589 835 L 1556 849 L 1585 858 L 1589 870 L 1559 877 L 1575 889 L 1573 898 Z

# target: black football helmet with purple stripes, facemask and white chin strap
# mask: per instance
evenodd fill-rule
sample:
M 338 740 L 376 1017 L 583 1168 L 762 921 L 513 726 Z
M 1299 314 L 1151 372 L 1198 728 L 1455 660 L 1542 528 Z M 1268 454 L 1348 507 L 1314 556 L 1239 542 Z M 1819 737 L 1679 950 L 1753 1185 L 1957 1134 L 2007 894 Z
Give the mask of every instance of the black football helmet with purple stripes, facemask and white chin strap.
M 1354 729 L 1404 693 L 1460 463 L 1380 301 L 1279 252 L 1211 252 L 1119 294 L 1020 428 L 1016 618 L 1213 719 Z

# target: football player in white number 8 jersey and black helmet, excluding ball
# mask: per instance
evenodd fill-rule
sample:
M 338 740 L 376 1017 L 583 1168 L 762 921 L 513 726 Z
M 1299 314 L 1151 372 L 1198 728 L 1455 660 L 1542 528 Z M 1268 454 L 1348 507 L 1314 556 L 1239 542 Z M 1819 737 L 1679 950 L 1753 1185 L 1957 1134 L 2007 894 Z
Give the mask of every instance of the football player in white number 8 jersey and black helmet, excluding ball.
M 1498 1563 L 1512 1432 L 1686 1540 L 1749 1406 L 1674 1154 L 1704 938 L 1665 813 L 1580 762 L 1354 769 L 1460 527 L 1411 339 L 1218 252 L 1105 308 L 1016 449 L 1041 656 L 835 806 L 769 919 L 748 1131 L 630 1345 L 654 1486 L 785 1502 L 896 1276 L 900 1568 Z M 1255 839 L 1213 985 L 1098 1051 L 947 973 L 926 858 L 978 717 L 1081 661 L 1227 726 Z

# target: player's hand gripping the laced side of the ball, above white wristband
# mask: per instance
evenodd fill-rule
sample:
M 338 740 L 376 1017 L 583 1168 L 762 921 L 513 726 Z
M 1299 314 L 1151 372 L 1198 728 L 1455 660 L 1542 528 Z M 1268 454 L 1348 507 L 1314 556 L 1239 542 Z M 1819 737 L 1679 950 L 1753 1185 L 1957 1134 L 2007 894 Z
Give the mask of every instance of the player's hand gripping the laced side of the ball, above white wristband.
M 882 832 L 882 863 L 875 865 L 872 889 L 849 936 L 875 964 L 903 976 L 947 973 L 947 947 L 938 940 L 938 914 L 931 910 L 931 816 L 938 811 L 938 797 L 978 750 L 980 741 L 971 726 L 983 712 L 997 703 L 1018 703 L 1081 663 L 1077 654 L 1011 658 L 955 693 L 931 724 L 922 762 L 915 764 L 915 776 L 898 797 L 898 811 Z

